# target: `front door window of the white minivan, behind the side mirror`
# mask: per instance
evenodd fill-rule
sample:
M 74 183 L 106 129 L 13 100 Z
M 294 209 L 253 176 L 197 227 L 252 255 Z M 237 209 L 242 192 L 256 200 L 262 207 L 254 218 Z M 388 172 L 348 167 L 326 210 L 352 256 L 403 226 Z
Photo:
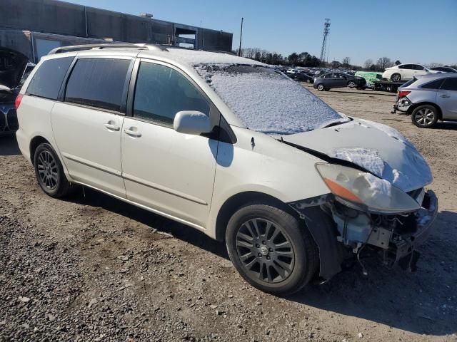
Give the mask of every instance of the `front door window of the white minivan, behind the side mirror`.
M 134 97 L 136 118 L 171 126 L 181 110 L 209 116 L 209 109 L 204 95 L 178 71 L 154 63 L 140 64 Z

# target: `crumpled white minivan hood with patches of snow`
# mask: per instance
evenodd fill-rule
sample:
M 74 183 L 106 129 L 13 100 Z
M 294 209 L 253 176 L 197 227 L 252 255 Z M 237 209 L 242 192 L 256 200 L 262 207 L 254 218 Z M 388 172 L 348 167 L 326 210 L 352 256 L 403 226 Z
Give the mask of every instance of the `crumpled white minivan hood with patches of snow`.
M 430 167 L 411 142 L 387 125 L 356 119 L 342 125 L 283 136 L 283 140 L 351 162 L 405 192 L 433 180 Z

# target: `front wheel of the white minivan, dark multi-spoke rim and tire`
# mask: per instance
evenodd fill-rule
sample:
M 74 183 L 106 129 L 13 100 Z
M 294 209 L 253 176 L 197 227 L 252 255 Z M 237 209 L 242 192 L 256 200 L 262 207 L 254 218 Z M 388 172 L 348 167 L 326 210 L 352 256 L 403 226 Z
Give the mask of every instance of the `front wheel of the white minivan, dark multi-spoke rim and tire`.
M 226 244 L 243 279 L 270 294 L 299 291 L 318 267 L 318 250 L 306 225 L 268 204 L 238 209 L 229 220 Z

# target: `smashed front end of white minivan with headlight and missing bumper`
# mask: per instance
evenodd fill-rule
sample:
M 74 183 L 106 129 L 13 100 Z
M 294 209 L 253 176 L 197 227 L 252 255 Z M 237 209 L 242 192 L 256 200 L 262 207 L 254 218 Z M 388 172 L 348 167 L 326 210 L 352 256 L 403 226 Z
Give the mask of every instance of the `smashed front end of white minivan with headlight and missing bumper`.
M 352 167 L 317 167 L 331 194 L 289 203 L 305 219 L 321 253 L 321 279 L 341 270 L 345 259 L 378 254 L 384 265 L 416 270 L 418 252 L 438 212 L 438 199 L 423 187 L 403 192 L 390 182 Z M 328 218 L 313 217 L 316 209 Z M 327 232 L 321 232 L 326 229 Z M 333 252 L 335 249 L 338 252 Z M 374 252 L 374 253 L 373 253 Z M 322 261 L 332 258 L 333 262 Z

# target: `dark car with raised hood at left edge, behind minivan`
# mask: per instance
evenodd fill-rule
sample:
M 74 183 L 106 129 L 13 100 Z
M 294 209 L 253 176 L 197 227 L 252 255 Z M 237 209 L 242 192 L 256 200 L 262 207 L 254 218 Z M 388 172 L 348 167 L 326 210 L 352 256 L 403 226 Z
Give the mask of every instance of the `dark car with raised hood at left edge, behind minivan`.
M 22 53 L 0 47 L 0 135 L 19 128 L 14 100 L 34 67 L 28 61 Z

